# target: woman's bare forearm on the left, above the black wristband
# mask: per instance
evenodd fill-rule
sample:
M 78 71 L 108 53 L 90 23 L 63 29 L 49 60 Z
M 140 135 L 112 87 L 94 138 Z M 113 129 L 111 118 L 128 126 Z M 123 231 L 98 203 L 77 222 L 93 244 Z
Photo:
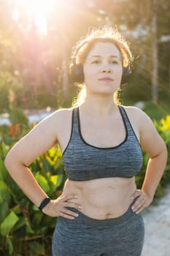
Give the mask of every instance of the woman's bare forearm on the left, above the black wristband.
M 31 170 L 22 163 L 6 161 L 7 170 L 13 180 L 18 184 L 18 187 L 23 190 L 24 194 L 36 205 L 39 206 L 42 200 L 47 197 L 47 194 L 42 190 L 36 182 Z

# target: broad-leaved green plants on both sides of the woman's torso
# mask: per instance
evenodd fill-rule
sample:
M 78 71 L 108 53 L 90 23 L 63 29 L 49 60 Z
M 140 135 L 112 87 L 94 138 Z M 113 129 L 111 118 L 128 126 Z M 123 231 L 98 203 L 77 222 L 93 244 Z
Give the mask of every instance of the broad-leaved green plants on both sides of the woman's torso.
M 159 134 L 170 151 L 170 116 L 154 121 Z M 22 134 L 20 133 L 20 136 Z M 13 136 L 13 140 L 7 140 Z M 18 188 L 4 167 L 4 158 L 9 148 L 18 139 L 7 135 L 6 143 L 0 142 L 0 255 L 1 256 L 38 256 L 51 255 L 51 240 L 55 228 L 55 218 L 39 211 Z M 9 141 L 9 145 L 7 145 Z M 137 187 L 141 188 L 147 167 L 148 156 L 143 152 L 144 164 L 136 176 Z M 58 146 L 51 148 L 36 159 L 31 167 L 36 181 L 52 199 L 61 195 L 66 176 L 63 171 L 61 151 Z M 170 156 L 155 197 L 163 196 L 163 188 L 170 181 Z

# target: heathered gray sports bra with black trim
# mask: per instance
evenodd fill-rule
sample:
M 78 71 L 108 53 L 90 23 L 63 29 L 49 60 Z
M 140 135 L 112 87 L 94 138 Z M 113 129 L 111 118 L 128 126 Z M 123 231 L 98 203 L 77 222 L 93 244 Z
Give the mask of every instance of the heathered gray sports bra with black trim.
M 72 112 L 72 132 L 63 152 L 66 175 L 71 181 L 94 178 L 131 178 L 142 167 L 142 148 L 122 106 L 118 106 L 125 125 L 125 140 L 118 146 L 98 148 L 85 142 L 80 130 L 79 108 Z

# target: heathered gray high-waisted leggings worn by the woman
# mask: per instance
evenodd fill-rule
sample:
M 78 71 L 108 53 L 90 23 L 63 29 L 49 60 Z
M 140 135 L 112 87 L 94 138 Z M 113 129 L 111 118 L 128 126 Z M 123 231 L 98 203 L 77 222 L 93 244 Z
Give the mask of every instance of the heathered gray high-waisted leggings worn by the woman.
M 73 211 L 73 208 L 72 208 Z M 58 217 L 53 234 L 53 256 L 140 256 L 144 222 L 131 207 L 114 219 L 91 219 L 80 211 L 69 220 Z

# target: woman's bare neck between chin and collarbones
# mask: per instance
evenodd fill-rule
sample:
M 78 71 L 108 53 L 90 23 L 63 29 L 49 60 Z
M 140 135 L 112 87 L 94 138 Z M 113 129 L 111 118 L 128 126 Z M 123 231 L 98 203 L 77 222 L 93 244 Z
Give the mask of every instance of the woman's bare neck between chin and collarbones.
M 89 113 L 106 116 L 117 109 L 117 104 L 113 100 L 113 94 L 87 94 L 81 108 Z

